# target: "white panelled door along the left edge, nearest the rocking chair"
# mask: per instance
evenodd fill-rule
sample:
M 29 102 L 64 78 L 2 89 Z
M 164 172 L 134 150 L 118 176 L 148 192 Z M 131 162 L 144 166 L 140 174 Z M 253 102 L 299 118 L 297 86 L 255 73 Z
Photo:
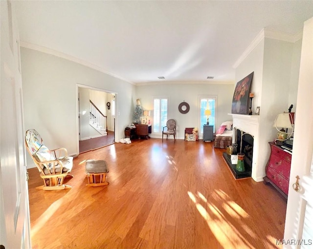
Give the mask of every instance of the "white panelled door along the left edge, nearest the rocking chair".
M 22 77 L 14 2 L 0 1 L 0 245 L 30 248 Z

